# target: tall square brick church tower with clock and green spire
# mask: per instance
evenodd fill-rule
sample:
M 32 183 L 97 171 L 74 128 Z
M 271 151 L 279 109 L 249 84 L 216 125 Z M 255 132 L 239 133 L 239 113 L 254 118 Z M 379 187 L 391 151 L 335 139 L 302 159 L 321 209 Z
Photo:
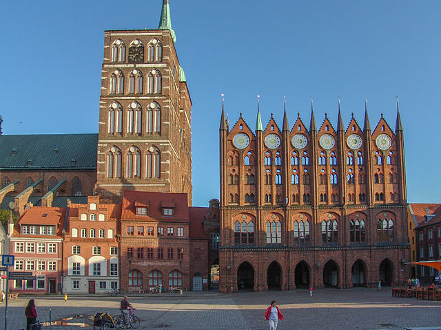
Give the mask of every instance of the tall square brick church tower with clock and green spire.
M 185 192 L 192 205 L 191 109 L 170 5 L 157 30 L 105 31 L 95 191 Z

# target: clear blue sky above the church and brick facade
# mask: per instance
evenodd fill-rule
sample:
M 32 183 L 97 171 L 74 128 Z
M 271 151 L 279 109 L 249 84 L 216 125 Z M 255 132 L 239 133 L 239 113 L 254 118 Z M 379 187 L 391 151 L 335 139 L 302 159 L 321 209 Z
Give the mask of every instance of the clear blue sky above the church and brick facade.
M 158 28 L 162 0 L 3 1 L 3 134 L 98 131 L 104 30 Z M 440 1 L 170 0 L 192 107 L 194 206 L 219 196 L 220 94 L 232 126 L 325 113 L 404 126 L 409 202 L 441 203 Z M 438 136 L 438 137 L 437 137 Z

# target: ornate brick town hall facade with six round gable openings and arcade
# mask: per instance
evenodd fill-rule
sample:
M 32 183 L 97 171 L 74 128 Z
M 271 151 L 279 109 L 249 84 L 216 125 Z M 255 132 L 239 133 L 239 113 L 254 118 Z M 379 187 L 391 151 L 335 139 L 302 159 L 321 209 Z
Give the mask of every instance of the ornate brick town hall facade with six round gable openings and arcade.
M 397 104 L 398 105 L 398 104 Z M 404 144 L 380 118 L 337 129 L 220 122 L 220 292 L 347 288 L 407 279 Z

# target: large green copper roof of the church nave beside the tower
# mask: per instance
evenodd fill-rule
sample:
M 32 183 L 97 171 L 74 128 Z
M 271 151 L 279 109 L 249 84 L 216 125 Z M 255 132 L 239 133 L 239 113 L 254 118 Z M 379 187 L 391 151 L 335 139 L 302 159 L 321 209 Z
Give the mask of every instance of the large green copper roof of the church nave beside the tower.
M 0 169 L 96 170 L 98 134 L 0 135 Z

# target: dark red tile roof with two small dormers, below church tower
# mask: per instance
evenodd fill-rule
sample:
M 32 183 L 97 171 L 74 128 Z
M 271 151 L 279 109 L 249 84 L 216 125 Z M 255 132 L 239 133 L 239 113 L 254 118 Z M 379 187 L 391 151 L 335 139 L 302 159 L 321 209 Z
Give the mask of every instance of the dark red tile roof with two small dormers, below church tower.
M 135 205 L 148 206 L 147 219 L 189 221 L 187 194 L 174 194 L 171 192 L 141 192 L 125 190 L 121 220 L 145 219 L 136 216 Z M 174 207 L 173 217 L 164 217 L 163 208 Z

